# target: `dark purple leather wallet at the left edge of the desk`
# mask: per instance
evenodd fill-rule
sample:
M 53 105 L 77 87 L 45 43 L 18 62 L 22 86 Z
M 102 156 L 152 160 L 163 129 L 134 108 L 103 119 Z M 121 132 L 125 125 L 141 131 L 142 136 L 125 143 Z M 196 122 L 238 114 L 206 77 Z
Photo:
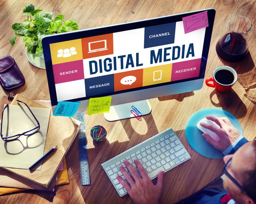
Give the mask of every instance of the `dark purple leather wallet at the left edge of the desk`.
M 0 58 L 0 84 L 6 92 L 25 84 L 25 79 L 11 55 Z

